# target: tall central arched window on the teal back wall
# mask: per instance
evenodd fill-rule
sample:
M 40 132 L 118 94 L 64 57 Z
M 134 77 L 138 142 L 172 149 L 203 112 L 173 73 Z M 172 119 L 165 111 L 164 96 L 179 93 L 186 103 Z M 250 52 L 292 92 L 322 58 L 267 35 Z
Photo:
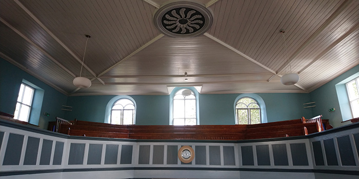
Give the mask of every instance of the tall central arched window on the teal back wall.
M 173 125 L 196 125 L 196 96 L 190 89 L 179 89 L 173 96 Z

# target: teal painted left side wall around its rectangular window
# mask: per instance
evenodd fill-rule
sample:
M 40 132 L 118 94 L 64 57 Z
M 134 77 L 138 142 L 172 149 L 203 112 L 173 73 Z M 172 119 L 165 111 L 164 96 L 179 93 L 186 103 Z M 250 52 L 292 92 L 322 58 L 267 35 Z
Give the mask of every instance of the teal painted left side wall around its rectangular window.
M 48 122 L 55 121 L 55 117 L 64 118 L 65 114 L 61 108 L 62 105 L 66 105 L 67 103 L 66 95 L 56 91 L 51 86 L 24 72 L 2 58 L 0 58 L 0 111 L 8 114 L 14 114 L 18 91 L 23 79 L 44 90 L 41 114 L 38 119 L 38 123 L 35 122 L 33 124 L 46 129 Z M 50 116 L 44 116 L 43 114 L 45 112 L 49 113 Z

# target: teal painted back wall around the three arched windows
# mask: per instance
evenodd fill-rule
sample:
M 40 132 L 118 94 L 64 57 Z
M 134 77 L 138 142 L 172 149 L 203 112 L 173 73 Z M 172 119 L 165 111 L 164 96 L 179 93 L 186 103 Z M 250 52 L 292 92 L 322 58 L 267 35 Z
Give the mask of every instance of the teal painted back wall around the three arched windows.
M 235 124 L 233 105 L 239 94 L 201 95 L 200 124 Z M 311 109 L 303 108 L 309 101 L 309 94 L 257 94 L 267 106 L 268 122 L 312 117 Z M 65 119 L 104 122 L 107 103 L 114 96 L 68 97 Z M 137 105 L 136 125 L 169 125 L 169 96 L 130 96 Z M 280 111 L 280 112 L 278 112 Z

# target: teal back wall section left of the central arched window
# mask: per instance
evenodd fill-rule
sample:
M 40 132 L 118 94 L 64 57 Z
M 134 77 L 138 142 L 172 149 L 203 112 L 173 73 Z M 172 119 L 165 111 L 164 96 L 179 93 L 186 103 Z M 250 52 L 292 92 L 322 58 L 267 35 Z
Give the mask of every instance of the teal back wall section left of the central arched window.
M 66 111 L 65 119 L 92 122 L 104 122 L 107 103 L 114 96 L 74 96 L 68 97 L 67 105 L 72 111 Z M 168 125 L 169 96 L 130 96 L 137 105 L 137 125 Z

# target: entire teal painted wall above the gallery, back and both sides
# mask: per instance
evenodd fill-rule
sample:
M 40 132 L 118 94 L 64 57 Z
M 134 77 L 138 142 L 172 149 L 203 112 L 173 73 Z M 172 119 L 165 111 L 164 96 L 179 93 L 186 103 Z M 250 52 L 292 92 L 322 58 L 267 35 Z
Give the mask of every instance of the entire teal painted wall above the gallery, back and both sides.
M 267 107 L 268 122 L 310 118 L 323 115 L 334 126 L 341 126 L 343 120 L 335 85 L 359 72 L 359 65 L 343 75 L 328 82 L 310 94 L 265 93 L 261 96 Z M 104 122 L 107 103 L 114 96 L 78 96 L 67 97 L 51 86 L 22 71 L 4 59 L 0 59 L 0 111 L 13 114 L 19 86 L 25 79 L 44 89 L 44 100 L 38 125 L 47 128 L 48 121 L 55 117 L 68 120 L 78 119 Z M 200 124 L 235 124 L 234 100 L 240 94 L 199 95 Z M 137 125 L 168 125 L 169 96 L 131 96 L 137 105 Z M 303 108 L 303 103 L 315 101 L 316 107 Z M 61 110 L 62 105 L 72 106 L 72 111 Z M 328 109 L 335 107 L 336 111 Z M 43 113 L 49 113 L 46 117 Z

